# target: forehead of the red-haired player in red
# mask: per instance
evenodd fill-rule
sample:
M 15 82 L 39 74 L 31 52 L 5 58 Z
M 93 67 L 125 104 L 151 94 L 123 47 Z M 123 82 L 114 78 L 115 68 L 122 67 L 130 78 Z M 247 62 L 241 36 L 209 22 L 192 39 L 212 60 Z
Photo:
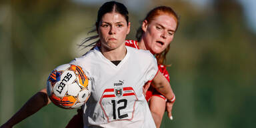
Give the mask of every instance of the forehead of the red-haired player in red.
M 159 15 L 155 17 L 150 24 L 159 24 L 167 29 L 175 30 L 177 27 L 177 20 L 171 15 Z

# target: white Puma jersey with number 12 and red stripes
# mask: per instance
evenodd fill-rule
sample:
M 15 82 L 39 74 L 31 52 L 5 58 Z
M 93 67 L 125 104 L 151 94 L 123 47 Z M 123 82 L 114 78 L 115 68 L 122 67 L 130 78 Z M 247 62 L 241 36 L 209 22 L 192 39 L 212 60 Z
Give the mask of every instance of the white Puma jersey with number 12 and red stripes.
M 71 61 L 92 81 L 91 96 L 83 107 L 84 127 L 155 127 L 143 85 L 157 74 L 157 60 L 149 51 L 126 49 L 118 65 L 98 47 Z

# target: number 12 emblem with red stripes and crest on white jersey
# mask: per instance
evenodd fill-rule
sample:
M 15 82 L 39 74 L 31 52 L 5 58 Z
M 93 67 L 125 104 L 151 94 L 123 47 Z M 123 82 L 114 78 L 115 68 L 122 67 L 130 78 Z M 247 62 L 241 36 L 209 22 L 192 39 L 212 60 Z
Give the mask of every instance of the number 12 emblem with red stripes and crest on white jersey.
M 131 120 L 135 111 L 137 95 L 132 87 L 105 89 L 100 105 L 107 121 Z

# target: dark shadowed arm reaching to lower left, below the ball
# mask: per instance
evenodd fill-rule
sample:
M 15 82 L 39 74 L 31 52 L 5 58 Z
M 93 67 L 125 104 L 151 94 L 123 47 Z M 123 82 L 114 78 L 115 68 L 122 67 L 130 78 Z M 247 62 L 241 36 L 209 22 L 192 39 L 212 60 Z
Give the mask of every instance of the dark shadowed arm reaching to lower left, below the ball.
M 51 100 L 49 100 L 47 96 L 46 88 L 42 89 L 41 91 L 37 92 L 33 97 L 31 97 L 24 105 L 9 119 L 5 124 L 1 126 L 3 127 L 13 127 L 20 121 L 23 121 L 23 119 L 29 117 L 30 115 L 33 115 L 37 111 L 39 111 L 42 107 L 45 105 L 48 105 L 51 103 Z

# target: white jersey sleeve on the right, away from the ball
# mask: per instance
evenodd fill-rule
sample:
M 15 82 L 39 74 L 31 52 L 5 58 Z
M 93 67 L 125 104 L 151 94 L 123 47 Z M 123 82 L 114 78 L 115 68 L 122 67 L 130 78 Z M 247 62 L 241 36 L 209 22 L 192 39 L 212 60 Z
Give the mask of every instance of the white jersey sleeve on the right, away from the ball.
M 158 72 L 157 59 L 155 59 L 155 57 L 151 53 L 149 53 L 149 55 L 151 57 L 149 58 L 149 61 L 147 62 L 148 68 L 145 73 L 146 81 L 151 81 L 155 77 L 155 75 L 157 75 L 157 72 Z

